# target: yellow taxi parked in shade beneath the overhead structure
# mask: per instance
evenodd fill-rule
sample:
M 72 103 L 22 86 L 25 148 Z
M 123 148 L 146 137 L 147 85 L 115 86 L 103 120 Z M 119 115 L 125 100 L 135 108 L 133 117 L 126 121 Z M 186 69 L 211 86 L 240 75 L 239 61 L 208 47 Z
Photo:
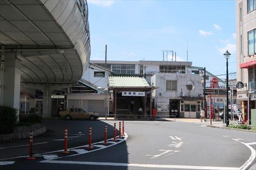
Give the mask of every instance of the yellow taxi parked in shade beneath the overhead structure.
M 71 120 L 71 119 L 95 120 L 99 117 L 98 113 L 88 112 L 83 108 L 70 108 L 65 111 L 60 111 L 59 115 L 60 117 L 66 118 L 67 120 Z

